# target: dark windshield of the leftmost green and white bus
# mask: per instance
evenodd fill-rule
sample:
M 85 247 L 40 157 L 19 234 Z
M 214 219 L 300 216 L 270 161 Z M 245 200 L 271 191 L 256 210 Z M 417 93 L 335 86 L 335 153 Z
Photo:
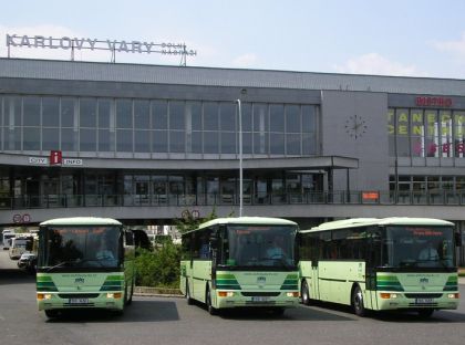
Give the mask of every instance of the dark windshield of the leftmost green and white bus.
M 120 228 L 114 226 L 56 226 L 41 230 L 38 266 L 52 270 L 116 268 Z

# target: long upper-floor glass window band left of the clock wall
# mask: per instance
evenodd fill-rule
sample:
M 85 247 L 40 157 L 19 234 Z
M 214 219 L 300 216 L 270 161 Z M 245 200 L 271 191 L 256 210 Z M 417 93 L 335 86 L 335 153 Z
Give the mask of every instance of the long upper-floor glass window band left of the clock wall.
M 2 151 L 62 150 L 89 156 L 238 154 L 234 102 L 4 95 Z M 319 155 L 317 105 L 242 103 L 242 153 Z M 164 155 L 164 156 L 163 156 Z

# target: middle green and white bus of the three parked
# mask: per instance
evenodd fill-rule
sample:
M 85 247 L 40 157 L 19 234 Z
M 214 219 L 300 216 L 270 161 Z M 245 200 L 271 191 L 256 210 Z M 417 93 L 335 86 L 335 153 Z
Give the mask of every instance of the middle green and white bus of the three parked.
M 218 218 L 183 234 L 180 290 L 215 314 L 257 306 L 282 314 L 299 303 L 298 226 L 279 218 Z

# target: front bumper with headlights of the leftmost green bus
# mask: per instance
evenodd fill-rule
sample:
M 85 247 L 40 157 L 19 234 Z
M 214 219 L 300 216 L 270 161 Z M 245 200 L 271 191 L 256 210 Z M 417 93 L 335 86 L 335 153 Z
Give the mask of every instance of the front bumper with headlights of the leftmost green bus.
M 105 309 L 122 311 L 124 294 L 122 292 L 105 293 L 56 293 L 40 292 L 37 294 L 39 311 L 58 309 Z

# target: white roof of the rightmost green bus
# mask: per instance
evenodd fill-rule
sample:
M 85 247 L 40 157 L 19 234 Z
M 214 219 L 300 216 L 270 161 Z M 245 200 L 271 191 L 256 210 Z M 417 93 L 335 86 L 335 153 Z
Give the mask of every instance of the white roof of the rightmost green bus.
M 454 226 L 453 222 L 435 218 L 411 218 L 411 217 L 388 217 L 388 218 L 351 218 L 324 222 L 310 230 L 300 232 L 335 230 L 344 228 L 356 228 L 365 226 Z

